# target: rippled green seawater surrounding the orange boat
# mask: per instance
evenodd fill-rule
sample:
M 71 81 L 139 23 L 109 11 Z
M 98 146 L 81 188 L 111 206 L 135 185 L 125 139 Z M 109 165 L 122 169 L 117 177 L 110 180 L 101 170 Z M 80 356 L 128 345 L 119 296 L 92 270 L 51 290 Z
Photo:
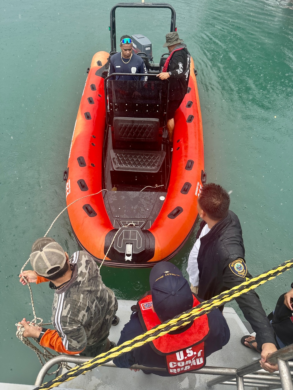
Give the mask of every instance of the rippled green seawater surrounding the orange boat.
M 100 0 L 2 0 L 0 4 L 1 319 L 0 381 L 33 384 L 41 368 L 15 337 L 32 318 L 18 274 L 32 243 L 66 206 L 63 171 L 86 69 L 110 50 L 109 11 Z M 284 0 L 174 0 L 180 37 L 198 71 L 207 180 L 231 192 L 250 273 L 293 257 L 293 3 Z M 117 35 L 142 33 L 155 60 L 170 12 L 118 10 Z M 77 250 L 66 213 L 49 236 Z M 172 260 L 184 275 L 195 232 Z M 148 289 L 149 269 L 102 267 L 118 298 Z M 257 289 L 267 312 L 293 282 L 287 271 Z M 36 312 L 50 321 L 53 292 L 33 285 Z M 236 307 L 235 305 L 233 307 Z M 240 347 L 239 347 L 240 348 Z

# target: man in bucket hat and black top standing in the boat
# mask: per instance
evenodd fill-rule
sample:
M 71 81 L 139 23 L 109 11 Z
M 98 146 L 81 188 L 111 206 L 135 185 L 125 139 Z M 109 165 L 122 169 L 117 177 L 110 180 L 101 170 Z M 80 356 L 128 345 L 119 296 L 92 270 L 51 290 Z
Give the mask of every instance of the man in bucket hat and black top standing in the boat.
M 162 73 L 157 77 L 161 80 L 169 79 L 169 108 L 168 108 L 168 138 L 169 143 L 173 142 L 174 132 L 174 115 L 177 108 L 179 108 L 188 87 L 188 80 L 190 74 L 190 54 L 182 39 L 176 31 L 166 34 L 166 43 L 163 47 L 168 47 L 170 51 L 169 57 L 166 59 Z

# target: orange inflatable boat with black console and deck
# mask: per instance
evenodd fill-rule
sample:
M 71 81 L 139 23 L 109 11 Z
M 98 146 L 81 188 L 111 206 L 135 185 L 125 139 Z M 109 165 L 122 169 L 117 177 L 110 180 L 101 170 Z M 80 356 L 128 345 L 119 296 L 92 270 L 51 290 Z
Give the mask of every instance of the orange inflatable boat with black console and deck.
M 174 31 L 175 11 L 172 16 Z M 96 261 L 107 254 L 107 266 L 152 267 L 186 242 L 205 182 L 196 71 L 191 60 L 173 145 L 165 145 L 169 85 L 155 77 L 164 56 L 151 65 L 151 53 L 141 55 L 147 82 L 109 79 L 114 30 L 111 25 L 112 52 L 92 59 L 77 113 L 64 171 L 68 216 L 77 242 Z

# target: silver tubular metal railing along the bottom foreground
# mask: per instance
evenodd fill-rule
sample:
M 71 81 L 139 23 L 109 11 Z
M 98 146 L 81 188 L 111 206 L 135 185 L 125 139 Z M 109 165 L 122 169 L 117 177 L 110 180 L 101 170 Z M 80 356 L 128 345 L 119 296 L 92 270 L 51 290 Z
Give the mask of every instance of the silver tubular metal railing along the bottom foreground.
M 238 390 L 244 390 L 245 386 L 277 389 L 282 387 L 283 390 L 293 390 L 292 376 L 293 372 L 290 371 L 290 367 L 293 369 L 293 362 L 288 362 L 289 359 L 293 358 L 293 344 L 279 349 L 267 357 L 268 363 L 279 365 L 279 371 L 275 371 L 270 374 L 263 369 L 260 369 L 259 361 L 236 368 L 229 367 L 210 367 L 205 366 L 204 368 L 192 371 L 192 374 L 207 374 L 207 375 L 220 375 L 217 378 L 211 379 L 205 383 L 206 389 L 211 389 L 213 386 L 222 385 L 236 385 Z M 36 378 L 35 385 L 40 386 L 43 383 L 45 375 L 57 363 L 67 362 L 75 363 L 80 365 L 82 363 L 91 360 L 92 358 L 78 355 L 59 355 L 50 359 L 43 368 L 39 371 Z M 111 361 L 103 364 L 104 367 L 116 367 Z M 118 368 L 118 367 L 116 367 Z M 133 365 L 132 368 L 147 370 L 147 371 L 166 371 L 160 367 L 145 367 L 140 365 Z M 202 387 L 201 387 L 202 388 Z

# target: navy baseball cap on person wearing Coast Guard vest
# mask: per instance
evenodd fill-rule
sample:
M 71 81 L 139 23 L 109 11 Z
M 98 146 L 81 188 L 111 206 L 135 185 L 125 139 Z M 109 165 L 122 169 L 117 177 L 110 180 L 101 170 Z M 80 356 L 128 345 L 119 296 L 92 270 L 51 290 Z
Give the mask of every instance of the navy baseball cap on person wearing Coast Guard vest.
M 162 261 L 155 264 L 150 271 L 150 288 L 154 310 L 161 322 L 193 307 L 188 281 L 172 263 Z

